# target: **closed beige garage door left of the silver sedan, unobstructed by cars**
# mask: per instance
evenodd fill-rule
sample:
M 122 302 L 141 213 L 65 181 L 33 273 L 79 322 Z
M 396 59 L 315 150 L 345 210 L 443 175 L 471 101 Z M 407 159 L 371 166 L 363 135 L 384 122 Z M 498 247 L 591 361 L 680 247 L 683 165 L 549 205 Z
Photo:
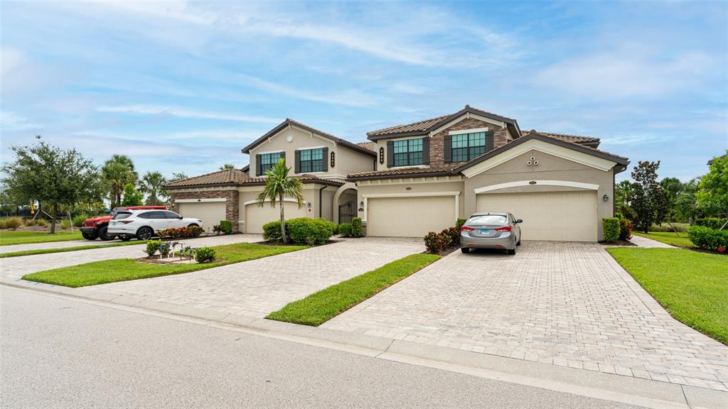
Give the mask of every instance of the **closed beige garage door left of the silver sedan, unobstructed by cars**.
M 367 199 L 368 236 L 423 237 L 455 226 L 455 196 Z

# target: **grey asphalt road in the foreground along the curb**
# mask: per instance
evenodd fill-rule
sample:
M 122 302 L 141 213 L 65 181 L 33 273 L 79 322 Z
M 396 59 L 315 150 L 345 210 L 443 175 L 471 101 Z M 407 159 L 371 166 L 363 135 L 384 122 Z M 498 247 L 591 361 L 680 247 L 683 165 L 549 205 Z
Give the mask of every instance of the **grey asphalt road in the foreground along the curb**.
M 0 407 L 637 408 L 0 286 Z

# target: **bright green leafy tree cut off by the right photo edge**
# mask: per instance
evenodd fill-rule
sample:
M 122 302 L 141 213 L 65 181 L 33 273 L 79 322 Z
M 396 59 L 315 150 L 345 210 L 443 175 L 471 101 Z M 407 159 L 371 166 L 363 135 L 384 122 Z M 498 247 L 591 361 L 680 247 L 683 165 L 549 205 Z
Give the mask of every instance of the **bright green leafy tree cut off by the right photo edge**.
M 728 214 L 728 150 L 726 155 L 709 163 L 708 173 L 700 179 L 695 201 L 706 214 L 720 217 Z

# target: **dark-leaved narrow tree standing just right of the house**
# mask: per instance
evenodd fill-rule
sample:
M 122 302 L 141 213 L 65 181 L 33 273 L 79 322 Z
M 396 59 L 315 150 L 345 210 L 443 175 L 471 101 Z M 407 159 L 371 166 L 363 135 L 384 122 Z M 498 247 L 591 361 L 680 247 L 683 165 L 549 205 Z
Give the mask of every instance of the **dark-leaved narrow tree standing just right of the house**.
M 665 220 L 667 206 L 665 193 L 657 183 L 657 169 L 660 161 L 640 161 L 632 170 L 632 194 L 629 201 L 634 210 L 633 223 L 641 231 L 647 232 L 654 223 Z

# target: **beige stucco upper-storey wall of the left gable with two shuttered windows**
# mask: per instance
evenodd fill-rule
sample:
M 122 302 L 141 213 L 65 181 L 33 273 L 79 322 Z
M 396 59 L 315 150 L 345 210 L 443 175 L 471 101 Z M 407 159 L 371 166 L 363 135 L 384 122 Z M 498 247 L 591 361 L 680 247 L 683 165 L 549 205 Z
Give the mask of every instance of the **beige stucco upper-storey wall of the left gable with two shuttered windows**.
M 288 142 L 288 137 L 292 140 Z M 278 132 L 268 140 L 264 141 L 255 148 L 250 149 L 250 175 L 256 175 L 256 155 L 285 152 L 285 164 L 291 168 L 291 174 L 295 170 L 296 150 L 308 148 L 328 148 L 328 156 L 324 158 L 328 170 L 326 172 L 309 172 L 319 177 L 344 179 L 349 173 L 369 172 L 373 170 L 373 157 L 361 154 L 357 151 L 349 149 L 334 143 L 333 140 L 322 136 L 313 136 L 297 127 L 288 127 Z M 331 152 L 334 153 L 334 166 L 331 167 Z

